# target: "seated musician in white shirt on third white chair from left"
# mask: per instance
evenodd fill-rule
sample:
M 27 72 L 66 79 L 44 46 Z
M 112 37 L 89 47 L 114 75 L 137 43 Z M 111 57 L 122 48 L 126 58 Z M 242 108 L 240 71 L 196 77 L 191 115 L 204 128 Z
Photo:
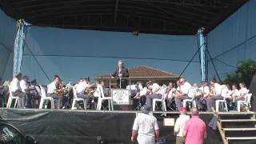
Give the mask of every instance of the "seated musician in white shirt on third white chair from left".
M 77 93 L 78 93 L 78 98 L 83 98 L 86 100 L 86 108 L 90 109 L 90 102 L 91 98 L 90 95 L 85 94 L 85 91 L 87 88 L 91 88 L 96 86 L 96 83 L 90 84 L 90 79 L 89 78 L 83 78 L 82 82 L 79 82 L 78 87 L 77 87 Z

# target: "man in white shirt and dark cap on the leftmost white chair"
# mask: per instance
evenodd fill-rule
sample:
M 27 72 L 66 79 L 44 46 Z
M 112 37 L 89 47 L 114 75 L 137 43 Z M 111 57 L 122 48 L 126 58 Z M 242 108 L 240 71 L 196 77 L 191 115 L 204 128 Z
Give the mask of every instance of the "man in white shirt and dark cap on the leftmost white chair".
M 22 92 L 21 86 L 19 85 L 20 80 L 22 80 L 22 74 L 16 74 L 15 78 L 10 82 L 10 91 L 14 97 L 19 97 L 22 99 L 21 106 L 22 108 L 26 108 L 26 93 Z

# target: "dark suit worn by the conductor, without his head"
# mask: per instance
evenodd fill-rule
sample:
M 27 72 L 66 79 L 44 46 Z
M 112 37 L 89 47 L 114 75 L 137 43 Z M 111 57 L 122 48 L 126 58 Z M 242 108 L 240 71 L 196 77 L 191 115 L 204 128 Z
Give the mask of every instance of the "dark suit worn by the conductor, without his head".
M 127 86 L 127 78 L 129 78 L 129 72 L 128 72 L 128 69 L 126 69 L 125 67 L 122 67 L 122 70 L 119 72 L 119 67 L 117 70 L 114 71 L 114 73 L 112 74 L 113 77 L 115 78 L 118 78 L 117 79 L 117 82 L 118 82 L 118 88 L 120 88 L 120 79 L 118 77 L 118 74 L 122 74 L 122 79 L 121 78 L 121 88 L 122 89 L 126 89 L 126 86 Z M 126 78 L 126 79 L 125 79 Z

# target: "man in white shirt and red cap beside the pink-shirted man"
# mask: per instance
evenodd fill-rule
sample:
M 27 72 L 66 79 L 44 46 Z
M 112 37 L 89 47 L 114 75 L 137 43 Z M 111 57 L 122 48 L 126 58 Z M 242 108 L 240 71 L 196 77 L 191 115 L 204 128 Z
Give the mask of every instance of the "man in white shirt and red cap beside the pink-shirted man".
M 176 144 L 184 144 L 186 138 L 183 137 L 183 129 L 185 127 L 186 121 L 190 119 L 189 115 L 186 115 L 186 107 L 181 107 L 180 115 L 177 118 L 174 126 L 174 135 L 176 135 Z

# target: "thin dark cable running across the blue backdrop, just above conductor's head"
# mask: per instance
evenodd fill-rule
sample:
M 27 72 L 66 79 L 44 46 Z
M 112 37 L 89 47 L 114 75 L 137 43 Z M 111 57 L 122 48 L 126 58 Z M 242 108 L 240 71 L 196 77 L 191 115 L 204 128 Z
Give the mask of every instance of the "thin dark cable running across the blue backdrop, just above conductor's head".
M 30 54 L 23 54 L 23 55 L 30 55 Z M 36 57 L 78 57 L 78 58 L 122 58 L 122 59 L 144 59 L 144 60 L 158 60 L 158 61 L 175 61 L 175 62 L 190 62 L 186 60 L 179 60 L 179 59 L 165 59 L 165 58 L 132 58 L 132 57 L 106 57 L 106 56 L 91 56 L 91 55 L 41 55 L 35 54 Z M 192 61 L 198 62 L 198 61 Z

